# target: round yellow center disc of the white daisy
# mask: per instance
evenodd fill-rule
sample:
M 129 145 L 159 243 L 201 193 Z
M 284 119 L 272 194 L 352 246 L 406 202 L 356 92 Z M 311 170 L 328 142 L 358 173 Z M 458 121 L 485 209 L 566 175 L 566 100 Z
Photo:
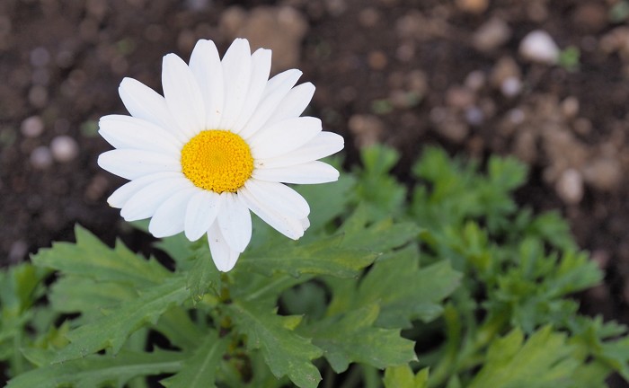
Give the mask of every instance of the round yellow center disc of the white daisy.
M 201 189 L 235 192 L 251 178 L 253 158 L 242 137 L 226 130 L 204 130 L 183 145 L 182 171 Z

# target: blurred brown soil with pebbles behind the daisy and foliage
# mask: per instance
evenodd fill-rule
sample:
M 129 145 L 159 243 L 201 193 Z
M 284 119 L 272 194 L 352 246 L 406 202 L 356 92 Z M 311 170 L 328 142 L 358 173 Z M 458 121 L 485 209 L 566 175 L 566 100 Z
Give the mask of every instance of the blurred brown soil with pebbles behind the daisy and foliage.
M 425 145 L 530 166 L 518 201 L 567 216 L 607 271 L 583 309 L 629 322 L 629 1 L 0 0 L 0 261 L 75 223 L 131 239 L 96 165 L 124 76 L 161 93 L 161 58 L 197 40 L 273 49 L 317 91 L 308 114 L 357 149 L 383 142 L 408 180 Z M 137 248 L 137 246 L 135 247 Z

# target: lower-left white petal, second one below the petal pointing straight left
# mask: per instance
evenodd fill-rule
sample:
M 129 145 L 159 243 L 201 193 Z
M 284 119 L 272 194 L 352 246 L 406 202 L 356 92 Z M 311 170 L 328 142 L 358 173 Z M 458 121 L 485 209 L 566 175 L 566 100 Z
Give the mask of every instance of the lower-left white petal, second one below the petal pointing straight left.
M 155 214 L 157 207 L 173 196 L 174 193 L 194 187 L 186 178 L 178 177 L 155 181 L 128 198 L 120 211 L 126 221 L 137 221 Z

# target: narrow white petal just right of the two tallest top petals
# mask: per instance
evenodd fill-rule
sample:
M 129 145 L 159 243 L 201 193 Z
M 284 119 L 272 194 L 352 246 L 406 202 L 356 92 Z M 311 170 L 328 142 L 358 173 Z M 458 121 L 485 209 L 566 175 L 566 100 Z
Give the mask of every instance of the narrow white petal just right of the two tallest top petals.
M 260 48 L 252 55 L 252 76 L 249 84 L 249 92 L 244 101 L 243 110 L 232 128 L 234 133 L 240 132 L 251 118 L 253 111 L 258 107 L 264 87 L 270 74 L 270 49 Z

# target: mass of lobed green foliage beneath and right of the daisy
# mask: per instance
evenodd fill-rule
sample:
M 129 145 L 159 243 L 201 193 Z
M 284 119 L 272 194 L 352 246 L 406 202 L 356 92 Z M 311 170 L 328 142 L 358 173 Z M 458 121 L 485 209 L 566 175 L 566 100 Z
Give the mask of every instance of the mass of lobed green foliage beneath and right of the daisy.
M 76 242 L 0 271 L 8 386 L 146 388 L 155 375 L 169 388 L 629 381 L 625 326 L 581 316 L 571 298 L 600 270 L 561 216 L 513 200 L 523 164 L 490 157 L 482 171 L 427 148 L 403 185 L 394 150 L 361 160 L 338 182 L 296 188 L 312 208 L 300 241 L 253 219 L 226 274 L 205 238 L 155 242 L 169 270 L 78 226 Z

